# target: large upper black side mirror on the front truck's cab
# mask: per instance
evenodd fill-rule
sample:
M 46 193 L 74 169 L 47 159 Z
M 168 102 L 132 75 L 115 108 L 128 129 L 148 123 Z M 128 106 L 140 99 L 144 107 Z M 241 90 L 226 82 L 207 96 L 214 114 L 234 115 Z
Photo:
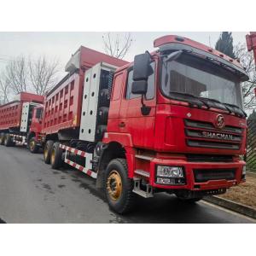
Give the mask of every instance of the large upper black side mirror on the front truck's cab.
M 154 73 L 153 68 L 150 66 L 150 55 L 144 53 L 134 57 L 133 64 L 133 80 L 148 80 L 148 77 Z

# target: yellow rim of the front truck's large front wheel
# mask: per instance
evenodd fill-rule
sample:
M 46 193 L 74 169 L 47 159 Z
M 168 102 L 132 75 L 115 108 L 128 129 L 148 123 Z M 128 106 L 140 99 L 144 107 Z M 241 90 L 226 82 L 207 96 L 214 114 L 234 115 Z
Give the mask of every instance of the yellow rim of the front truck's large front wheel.
M 122 179 L 119 172 L 113 170 L 107 180 L 108 195 L 113 201 L 117 201 L 122 194 Z

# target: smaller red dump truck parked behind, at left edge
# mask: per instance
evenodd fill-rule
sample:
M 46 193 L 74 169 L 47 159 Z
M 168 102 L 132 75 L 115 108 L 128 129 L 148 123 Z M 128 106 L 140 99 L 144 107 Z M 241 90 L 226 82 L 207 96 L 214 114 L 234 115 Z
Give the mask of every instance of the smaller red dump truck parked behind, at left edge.
M 13 102 L 0 106 L 0 145 L 27 145 L 32 153 L 38 151 L 42 129 L 44 96 L 21 92 Z

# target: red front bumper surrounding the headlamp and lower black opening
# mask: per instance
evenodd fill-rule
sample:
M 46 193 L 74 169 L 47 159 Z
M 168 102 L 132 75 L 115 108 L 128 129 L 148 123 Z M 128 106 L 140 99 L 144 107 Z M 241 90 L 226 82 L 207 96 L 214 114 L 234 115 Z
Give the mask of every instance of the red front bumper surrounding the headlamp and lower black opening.
M 182 166 L 185 173 L 185 184 L 163 185 L 156 183 L 156 166 Z M 246 163 L 242 160 L 236 162 L 188 162 L 186 160 L 166 160 L 154 158 L 150 162 L 149 184 L 159 189 L 189 189 L 189 190 L 208 190 L 208 189 L 228 189 L 231 186 L 244 182 L 242 177 L 242 167 Z M 195 169 L 216 170 L 216 172 L 226 169 L 235 169 L 235 177 L 232 179 L 211 179 L 206 182 L 195 182 Z

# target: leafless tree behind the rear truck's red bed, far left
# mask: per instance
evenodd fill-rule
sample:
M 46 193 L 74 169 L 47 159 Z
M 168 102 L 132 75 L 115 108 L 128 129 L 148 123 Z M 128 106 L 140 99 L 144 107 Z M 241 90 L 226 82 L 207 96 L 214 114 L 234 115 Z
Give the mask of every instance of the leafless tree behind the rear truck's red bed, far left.
M 26 58 L 23 55 L 9 61 L 5 69 L 5 78 L 15 94 L 28 89 Z

